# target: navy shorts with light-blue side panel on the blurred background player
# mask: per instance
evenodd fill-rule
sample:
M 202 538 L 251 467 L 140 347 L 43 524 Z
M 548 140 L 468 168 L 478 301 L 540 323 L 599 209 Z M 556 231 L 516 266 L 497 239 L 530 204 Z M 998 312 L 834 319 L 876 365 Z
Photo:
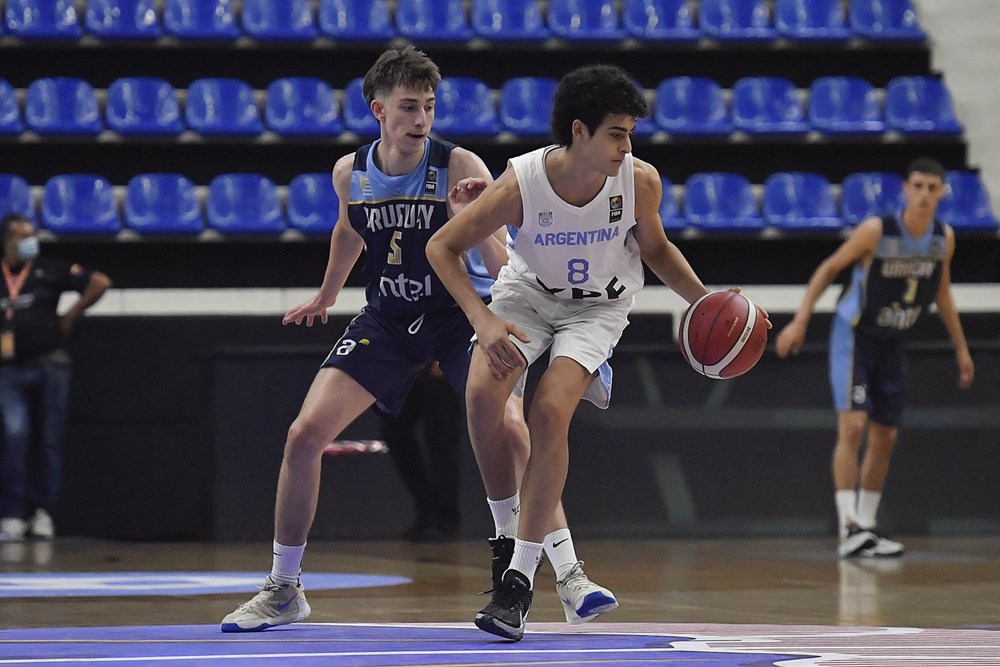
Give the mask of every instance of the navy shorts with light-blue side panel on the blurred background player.
M 834 318 L 830 388 L 837 410 L 864 410 L 873 422 L 896 426 L 903 413 L 905 383 L 903 341 L 866 336 Z

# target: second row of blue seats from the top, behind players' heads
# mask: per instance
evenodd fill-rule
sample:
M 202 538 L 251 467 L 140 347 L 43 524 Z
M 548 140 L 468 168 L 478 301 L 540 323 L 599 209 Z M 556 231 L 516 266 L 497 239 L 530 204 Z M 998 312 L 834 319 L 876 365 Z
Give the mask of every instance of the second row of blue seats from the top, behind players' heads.
M 503 131 L 548 135 L 556 84 L 550 78 L 519 77 L 495 93 L 479 79 L 445 78 L 437 91 L 435 129 L 447 137 Z M 25 129 L 39 134 L 95 134 L 105 128 L 123 135 L 168 136 L 185 129 L 204 135 L 252 136 L 265 128 L 286 136 L 335 136 L 344 130 L 378 134 L 361 79 L 346 86 L 343 102 L 328 83 L 305 77 L 274 81 L 264 95 L 262 114 L 247 82 L 198 79 L 185 91 L 182 112 L 177 91 L 163 79 L 124 78 L 108 88 L 102 122 L 98 95 L 89 83 L 71 77 L 45 78 L 33 81 L 24 93 L 22 121 L 18 91 L 0 79 L 0 134 Z M 823 77 L 801 92 L 788 79 L 746 77 L 728 94 L 712 79 L 672 77 L 657 86 L 652 109 L 652 116 L 637 128 L 640 136 L 658 131 L 680 136 L 737 130 L 752 134 L 810 130 L 961 134 L 963 130 L 948 88 L 929 76 L 897 77 L 884 91 L 857 77 Z

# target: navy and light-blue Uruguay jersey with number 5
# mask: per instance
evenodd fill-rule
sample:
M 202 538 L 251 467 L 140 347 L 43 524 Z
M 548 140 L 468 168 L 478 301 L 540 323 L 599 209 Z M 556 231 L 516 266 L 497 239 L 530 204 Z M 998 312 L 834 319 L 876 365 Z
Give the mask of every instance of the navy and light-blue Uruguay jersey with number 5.
M 354 155 L 347 215 L 365 241 L 368 304 L 383 315 L 411 317 L 457 308 L 427 261 L 430 237 L 448 221 L 448 161 L 454 144 L 428 138 L 420 165 L 387 176 L 375 165 L 378 141 Z M 492 283 L 478 252 L 466 258 L 481 296 Z

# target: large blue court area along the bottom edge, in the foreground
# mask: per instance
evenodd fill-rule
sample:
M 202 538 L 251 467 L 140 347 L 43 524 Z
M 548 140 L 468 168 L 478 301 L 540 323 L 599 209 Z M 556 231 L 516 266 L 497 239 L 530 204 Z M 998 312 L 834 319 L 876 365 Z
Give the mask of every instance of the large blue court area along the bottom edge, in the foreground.
M 551 627 L 555 624 L 538 624 Z M 566 627 L 566 626 L 562 626 Z M 44 628 L 0 631 L 0 665 L 636 665 L 764 667 L 812 659 L 749 648 L 675 648 L 693 637 L 613 632 L 534 633 L 497 640 L 472 627 L 302 623 L 230 635 L 218 626 Z M 803 662 L 805 664 L 805 662 Z

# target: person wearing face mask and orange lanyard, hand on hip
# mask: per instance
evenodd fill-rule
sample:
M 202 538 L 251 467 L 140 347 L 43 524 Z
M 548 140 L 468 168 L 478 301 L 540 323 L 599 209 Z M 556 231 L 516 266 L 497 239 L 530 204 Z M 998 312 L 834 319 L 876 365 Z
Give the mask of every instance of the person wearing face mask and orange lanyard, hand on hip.
M 111 280 L 41 256 L 35 225 L 22 214 L 3 218 L 0 239 L 0 542 L 50 539 L 69 398 L 64 344 Z M 68 291 L 80 298 L 60 315 L 59 297 Z

